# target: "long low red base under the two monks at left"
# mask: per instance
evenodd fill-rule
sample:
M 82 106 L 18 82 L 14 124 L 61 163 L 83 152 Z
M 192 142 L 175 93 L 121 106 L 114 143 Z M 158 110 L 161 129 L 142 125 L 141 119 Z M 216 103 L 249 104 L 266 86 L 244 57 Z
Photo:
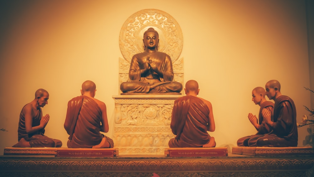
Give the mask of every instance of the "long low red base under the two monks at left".
M 3 155 L 51 155 L 54 157 L 117 157 L 119 150 L 117 148 L 4 148 Z

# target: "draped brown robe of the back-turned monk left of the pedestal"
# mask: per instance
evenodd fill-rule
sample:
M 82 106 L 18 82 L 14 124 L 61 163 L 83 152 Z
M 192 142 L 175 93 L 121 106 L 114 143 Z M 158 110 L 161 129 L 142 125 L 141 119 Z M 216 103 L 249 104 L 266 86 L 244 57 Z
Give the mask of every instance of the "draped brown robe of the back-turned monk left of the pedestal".
M 102 112 L 98 104 L 90 97 L 79 96 L 68 102 L 64 128 L 69 136 L 68 148 L 92 148 L 103 137 L 100 133 Z M 113 147 L 113 141 L 106 137 Z

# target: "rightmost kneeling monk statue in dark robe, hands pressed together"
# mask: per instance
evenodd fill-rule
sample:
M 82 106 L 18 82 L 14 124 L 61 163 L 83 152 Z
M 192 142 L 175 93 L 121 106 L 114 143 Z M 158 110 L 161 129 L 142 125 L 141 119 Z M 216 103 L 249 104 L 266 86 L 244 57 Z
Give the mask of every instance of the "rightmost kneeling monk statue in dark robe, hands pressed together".
M 261 147 L 296 147 L 298 145 L 298 129 L 296 125 L 296 110 L 293 100 L 280 92 L 278 80 L 270 80 L 265 86 L 266 95 L 274 100 L 273 121 L 272 113 L 264 108 L 263 118 L 273 129 L 269 134 L 257 139 L 256 146 Z

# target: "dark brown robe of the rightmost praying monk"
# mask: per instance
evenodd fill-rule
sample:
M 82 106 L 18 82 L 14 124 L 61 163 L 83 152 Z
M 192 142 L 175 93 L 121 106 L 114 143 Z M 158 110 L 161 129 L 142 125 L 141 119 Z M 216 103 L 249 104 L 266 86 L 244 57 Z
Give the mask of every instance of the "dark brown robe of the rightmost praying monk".
M 298 145 L 296 109 L 290 97 L 281 95 L 275 100 L 273 131 L 258 138 L 256 145 L 262 147 L 296 147 Z

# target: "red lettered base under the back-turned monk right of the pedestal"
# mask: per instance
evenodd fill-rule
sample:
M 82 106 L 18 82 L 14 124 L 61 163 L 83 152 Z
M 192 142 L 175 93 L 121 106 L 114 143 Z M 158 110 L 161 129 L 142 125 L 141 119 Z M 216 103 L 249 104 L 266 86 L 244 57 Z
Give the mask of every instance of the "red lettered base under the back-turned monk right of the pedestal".
M 223 157 L 228 156 L 227 147 L 166 148 L 166 157 Z

